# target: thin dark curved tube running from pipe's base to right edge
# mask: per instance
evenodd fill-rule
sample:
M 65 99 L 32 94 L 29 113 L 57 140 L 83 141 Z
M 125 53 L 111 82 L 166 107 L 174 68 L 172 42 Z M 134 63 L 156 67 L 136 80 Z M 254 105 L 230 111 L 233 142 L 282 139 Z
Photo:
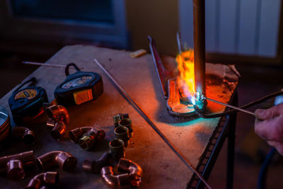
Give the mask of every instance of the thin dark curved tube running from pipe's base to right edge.
M 283 91 L 277 91 L 275 93 L 271 93 L 267 96 L 264 96 L 256 101 L 250 102 L 246 105 L 242 105 L 240 108 L 245 109 L 245 108 L 250 108 L 253 105 L 257 105 L 258 103 L 262 103 L 264 101 L 267 101 L 270 98 L 273 98 L 275 96 L 279 96 L 279 95 L 283 95 Z M 195 113 L 197 113 L 198 116 L 200 116 L 200 118 L 219 118 L 222 117 L 224 115 L 230 115 L 232 113 L 237 113 L 239 110 L 227 110 L 224 113 L 212 113 L 212 114 L 204 114 L 201 112 L 200 108 L 197 107 L 197 105 L 194 105 L 195 108 Z

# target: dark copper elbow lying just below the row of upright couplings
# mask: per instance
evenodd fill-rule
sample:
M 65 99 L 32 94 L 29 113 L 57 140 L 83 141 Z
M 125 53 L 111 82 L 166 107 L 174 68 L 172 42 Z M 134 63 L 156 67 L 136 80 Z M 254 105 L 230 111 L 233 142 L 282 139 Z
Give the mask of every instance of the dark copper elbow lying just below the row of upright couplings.
M 100 173 L 101 168 L 105 166 L 112 166 L 114 164 L 114 158 L 110 153 L 104 153 L 97 161 L 86 159 L 83 161 L 83 171 L 90 173 Z

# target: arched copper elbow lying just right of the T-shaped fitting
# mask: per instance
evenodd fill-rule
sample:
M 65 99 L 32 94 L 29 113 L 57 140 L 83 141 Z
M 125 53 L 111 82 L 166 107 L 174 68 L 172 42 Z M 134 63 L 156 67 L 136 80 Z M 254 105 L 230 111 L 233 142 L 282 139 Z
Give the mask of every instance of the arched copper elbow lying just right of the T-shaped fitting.
M 73 171 L 76 168 L 77 160 L 68 152 L 50 151 L 37 157 L 37 163 L 45 171 L 56 166 L 63 168 L 65 171 Z

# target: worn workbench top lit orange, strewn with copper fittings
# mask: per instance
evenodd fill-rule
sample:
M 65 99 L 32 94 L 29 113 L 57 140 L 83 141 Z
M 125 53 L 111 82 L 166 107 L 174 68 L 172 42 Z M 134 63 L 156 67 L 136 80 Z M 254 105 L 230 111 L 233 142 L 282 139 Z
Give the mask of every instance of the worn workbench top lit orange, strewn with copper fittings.
M 93 58 L 103 64 L 129 96 L 149 115 L 158 129 L 185 154 L 187 159 L 190 159 L 194 166 L 197 166 L 198 159 L 209 142 L 209 137 L 219 124 L 219 118 L 189 120 L 169 115 L 166 110 L 166 101 L 158 86 L 158 77 L 151 55 L 132 59 L 127 51 L 84 45 L 64 47 L 47 63 L 68 64 L 74 62 L 79 67 L 83 67 L 83 71 L 98 72 L 103 77 L 104 93 L 102 96 L 96 101 L 67 108 L 71 118 L 67 133 L 76 127 L 98 126 L 105 130 L 105 140 L 91 151 L 84 151 L 79 147 L 79 144 L 70 142 L 69 134 L 65 134 L 62 141 L 56 141 L 51 137 L 50 130 L 46 129 L 46 117 L 42 115 L 28 125 L 36 134 L 33 146 L 27 146 L 22 142 L 9 142 L 4 149 L 1 149 L 0 156 L 29 150 L 35 152 L 35 157 L 48 151 L 68 151 L 78 159 L 78 165 L 73 173 L 62 171 L 59 168 L 52 169 L 52 171 L 59 171 L 58 188 L 108 188 L 101 180 L 100 175 L 83 172 L 83 160 L 87 158 L 99 159 L 104 152 L 109 150 L 108 143 L 114 139 L 113 115 L 129 113 L 133 122 L 134 136 L 130 139 L 130 145 L 125 149 L 125 153 L 127 159 L 136 162 L 144 170 L 140 188 L 185 188 L 192 177 L 192 171 L 117 91 L 108 77 L 93 62 Z M 226 71 L 231 72 L 232 69 L 224 67 Z M 53 92 L 56 86 L 66 78 L 64 69 L 54 67 L 40 67 L 27 79 L 32 76 L 38 79 L 37 86 L 46 89 L 49 101 L 54 99 Z M 207 95 L 222 102 L 229 102 L 238 82 L 238 76 L 236 78 L 236 81 L 229 82 L 229 86 L 226 85 L 228 83 L 215 84 L 214 87 L 208 88 Z M 212 86 L 214 85 L 213 79 L 209 82 Z M 0 105 L 8 110 L 9 96 L 11 96 L 11 91 L 0 100 Z M 225 109 L 224 106 L 212 103 L 208 103 L 208 106 L 210 110 L 219 112 Z M 0 188 L 25 187 L 37 173 L 40 173 L 40 170 L 36 166 L 33 170 L 27 171 L 23 181 L 11 181 L 5 176 L 1 176 Z

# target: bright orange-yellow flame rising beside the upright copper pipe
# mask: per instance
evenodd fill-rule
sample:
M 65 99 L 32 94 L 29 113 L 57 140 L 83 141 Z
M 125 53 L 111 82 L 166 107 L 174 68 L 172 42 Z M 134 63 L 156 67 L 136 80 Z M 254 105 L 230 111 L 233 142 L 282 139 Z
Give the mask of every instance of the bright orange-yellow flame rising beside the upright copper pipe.
M 175 60 L 178 63 L 177 83 L 181 96 L 187 98 L 190 103 L 195 104 L 194 51 L 181 52 Z

